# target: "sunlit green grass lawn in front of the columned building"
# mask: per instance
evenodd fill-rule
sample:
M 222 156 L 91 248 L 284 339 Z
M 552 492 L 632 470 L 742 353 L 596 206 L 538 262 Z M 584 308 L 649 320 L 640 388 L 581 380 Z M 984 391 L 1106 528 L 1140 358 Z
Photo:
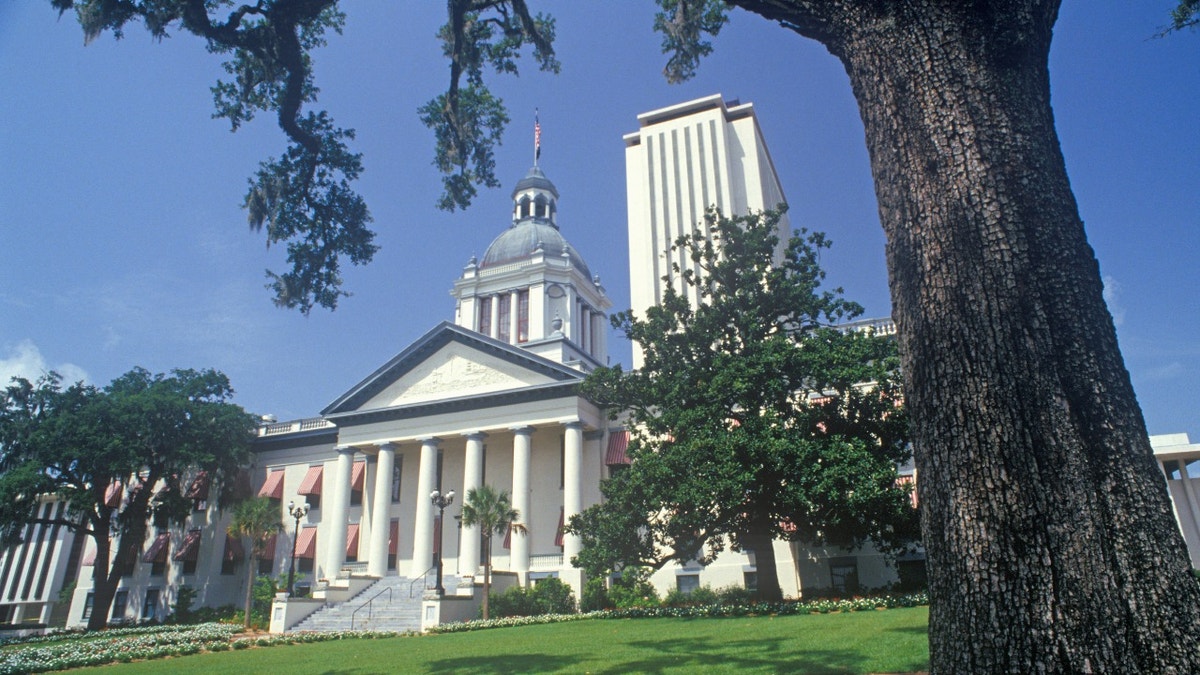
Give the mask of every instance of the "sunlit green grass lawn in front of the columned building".
M 912 673 L 928 670 L 929 608 L 739 619 L 575 621 L 338 640 L 107 665 L 86 671 Z

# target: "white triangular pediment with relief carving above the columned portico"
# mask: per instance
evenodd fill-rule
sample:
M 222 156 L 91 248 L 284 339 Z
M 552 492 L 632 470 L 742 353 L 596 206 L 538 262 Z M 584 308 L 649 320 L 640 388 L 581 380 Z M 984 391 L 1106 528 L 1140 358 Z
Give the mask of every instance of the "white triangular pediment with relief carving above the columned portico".
M 524 350 L 443 323 L 334 401 L 323 414 L 518 392 L 582 378 Z

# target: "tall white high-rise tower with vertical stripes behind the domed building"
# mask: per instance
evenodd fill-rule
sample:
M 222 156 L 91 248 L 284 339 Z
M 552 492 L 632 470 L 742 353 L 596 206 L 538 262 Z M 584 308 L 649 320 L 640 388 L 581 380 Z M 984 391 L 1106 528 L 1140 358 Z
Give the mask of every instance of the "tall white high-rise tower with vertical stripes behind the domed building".
M 752 103 L 714 94 L 642 113 L 637 125 L 624 141 L 630 300 L 642 315 L 662 298 L 671 263 L 691 264 L 672 258 L 671 244 L 703 227 L 706 210 L 739 216 L 785 198 Z M 782 251 L 791 234 L 786 216 L 779 228 Z M 641 366 L 636 346 L 634 366 Z

